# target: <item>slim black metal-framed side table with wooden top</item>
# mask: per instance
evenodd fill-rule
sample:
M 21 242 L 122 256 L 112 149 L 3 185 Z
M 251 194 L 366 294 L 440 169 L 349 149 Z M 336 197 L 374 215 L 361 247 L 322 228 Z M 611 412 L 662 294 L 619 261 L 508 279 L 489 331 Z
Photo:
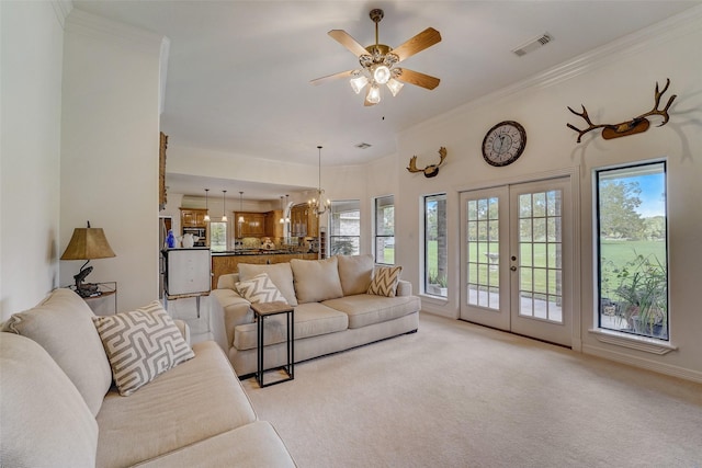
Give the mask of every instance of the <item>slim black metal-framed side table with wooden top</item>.
M 275 384 L 281 384 L 283 381 L 292 380 L 295 378 L 295 327 L 294 327 L 294 316 L 295 309 L 293 306 L 286 303 L 260 303 L 260 304 L 251 304 L 251 310 L 253 310 L 253 315 L 256 317 L 257 322 L 257 332 L 258 332 L 258 349 L 257 349 L 257 357 L 258 357 L 258 368 L 256 372 L 256 380 L 259 383 L 261 388 L 268 387 Z M 287 334 L 286 334 L 286 352 L 287 352 L 287 364 L 278 367 L 264 368 L 263 367 L 263 330 L 265 329 L 264 322 L 267 317 L 276 316 L 280 313 L 285 313 L 285 319 L 287 323 Z M 270 370 L 283 370 L 287 374 L 287 378 L 274 380 L 268 384 L 263 383 L 263 375 Z

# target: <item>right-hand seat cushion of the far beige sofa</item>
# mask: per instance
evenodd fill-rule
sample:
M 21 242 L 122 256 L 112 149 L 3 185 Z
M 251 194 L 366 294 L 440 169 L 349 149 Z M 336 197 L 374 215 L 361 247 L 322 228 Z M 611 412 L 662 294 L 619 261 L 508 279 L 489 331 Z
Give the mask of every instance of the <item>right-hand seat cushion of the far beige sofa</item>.
M 344 296 L 322 304 L 346 313 L 350 329 L 394 320 L 421 308 L 421 300 L 417 296 L 385 297 L 372 294 Z

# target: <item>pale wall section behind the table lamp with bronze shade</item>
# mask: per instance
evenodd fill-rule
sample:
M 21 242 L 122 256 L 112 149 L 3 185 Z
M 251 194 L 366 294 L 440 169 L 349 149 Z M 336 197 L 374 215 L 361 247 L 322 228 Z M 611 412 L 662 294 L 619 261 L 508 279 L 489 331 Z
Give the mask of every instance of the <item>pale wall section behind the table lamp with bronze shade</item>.
M 162 39 L 79 10 L 64 38 L 59 246 L 88 220 L 104 229 L 117 256 L 91 261 L 89 281 L 116 281 L 123 310 L 158 297 Z M 70 284 L 81 262 L 60 263 Z

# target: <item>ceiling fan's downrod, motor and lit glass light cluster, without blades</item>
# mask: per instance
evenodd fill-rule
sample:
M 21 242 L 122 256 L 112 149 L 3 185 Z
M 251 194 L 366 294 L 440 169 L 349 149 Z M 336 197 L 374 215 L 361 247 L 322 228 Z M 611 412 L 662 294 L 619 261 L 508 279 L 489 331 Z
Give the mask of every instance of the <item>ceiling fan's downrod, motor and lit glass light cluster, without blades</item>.
M 404 84 L 396 78 L 403 75 L 401 68 L 393 68 L 399 57 L 390 52 L 390 47 L 378 44 L 377 23 L 383 19 L 383 10 L 371 11 L 371 20 L 375 23 L 375 45 L 367 47 L 369 54 L 359 57 L 361 69 L 351 72 L 351 89 L 356 94 L 367 85 L 365 94 L 366 105 L 375 105 L 381 102 L 381 85 L 385 84 L 393 95 L 403 89 Z

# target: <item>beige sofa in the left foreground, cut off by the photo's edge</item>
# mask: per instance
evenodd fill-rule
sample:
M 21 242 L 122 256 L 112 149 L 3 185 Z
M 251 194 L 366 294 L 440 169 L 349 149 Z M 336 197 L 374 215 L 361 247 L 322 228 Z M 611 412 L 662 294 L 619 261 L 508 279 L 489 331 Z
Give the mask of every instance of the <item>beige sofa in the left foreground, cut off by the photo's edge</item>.
M 163 318 L 185 361 L 124 397 L 94 317 L 56 289 L 3 324 L 0 466 L 295 466 L 214 342 L 191 352 L 186 327 Z

